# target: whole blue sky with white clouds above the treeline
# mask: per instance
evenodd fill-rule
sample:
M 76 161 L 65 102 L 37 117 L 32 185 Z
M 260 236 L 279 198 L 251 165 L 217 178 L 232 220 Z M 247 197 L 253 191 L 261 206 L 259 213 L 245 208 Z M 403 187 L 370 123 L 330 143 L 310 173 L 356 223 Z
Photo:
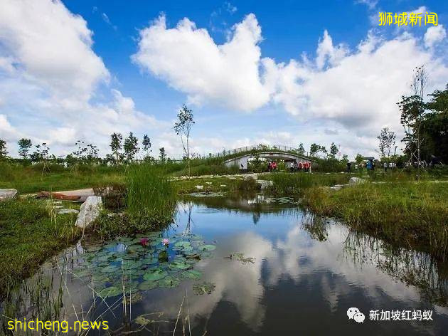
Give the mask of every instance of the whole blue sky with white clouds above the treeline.
M 400 135 L 395 103 L 425 64 L 447 83 L 446 1 L 12 1 L 0 14 L 0 138 L 148 134 L 179 157 L 172 124 L 193 108 L 196 154 L 312 142 L 375 154 Z M 439 25 L 378 26 L 378 12 L 425 11 Z

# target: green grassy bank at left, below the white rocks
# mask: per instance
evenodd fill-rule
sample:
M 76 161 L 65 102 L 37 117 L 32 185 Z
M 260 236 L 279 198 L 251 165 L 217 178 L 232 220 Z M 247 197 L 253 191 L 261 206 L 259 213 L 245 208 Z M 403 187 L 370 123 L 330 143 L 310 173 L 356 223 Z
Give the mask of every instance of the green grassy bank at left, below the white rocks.
M 0 296 L 78 238 L 76 217 L 55 216 L 41 201 L 0 202 Z

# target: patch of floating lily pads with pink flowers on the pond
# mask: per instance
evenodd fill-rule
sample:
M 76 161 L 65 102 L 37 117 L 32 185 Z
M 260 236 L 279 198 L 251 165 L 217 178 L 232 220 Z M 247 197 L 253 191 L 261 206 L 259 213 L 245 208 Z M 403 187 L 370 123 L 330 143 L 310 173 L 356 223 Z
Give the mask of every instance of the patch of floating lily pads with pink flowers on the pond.
M 84 253 L 71 258 L 73 273 L 86 283 L 95 281 L 102 298 L 121 295 L 122 288 L 127 293 L 136 293 L 174 288 L 183 280 L 200 278 L 201 272 L 193 267 L 202 258 L 209 258 L 215 246 L 193 233 L 164 238 L 166 245 L 160 243 L 161 237 L 160 231 L 150 232 L 87 246 Z M 174 243 L 172 247 L 170 242 Z

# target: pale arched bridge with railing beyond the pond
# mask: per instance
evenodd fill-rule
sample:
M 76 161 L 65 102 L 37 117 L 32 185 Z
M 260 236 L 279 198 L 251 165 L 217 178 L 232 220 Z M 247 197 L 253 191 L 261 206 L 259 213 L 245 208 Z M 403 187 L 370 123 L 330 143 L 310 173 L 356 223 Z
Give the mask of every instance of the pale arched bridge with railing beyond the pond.
M 247 169 L 247 162 L 251 159 L 254 159 L 256 156 L 268 160 L 284 160 L 287 167 L 291 167 L 293 162 L 316 162 L 314 159 L 310 159 L 309 157 L 304 157 L 300 154 L 294 154 L 292 152 L 283 152 L 282 150 L 267 150 L 260 151 L 256 153 L 246 153 L 242 154 L 238 157 L 233 157 L 230 159 L 226 159 L 223 163 L 227 167 L 238 166 L 240 169 Z

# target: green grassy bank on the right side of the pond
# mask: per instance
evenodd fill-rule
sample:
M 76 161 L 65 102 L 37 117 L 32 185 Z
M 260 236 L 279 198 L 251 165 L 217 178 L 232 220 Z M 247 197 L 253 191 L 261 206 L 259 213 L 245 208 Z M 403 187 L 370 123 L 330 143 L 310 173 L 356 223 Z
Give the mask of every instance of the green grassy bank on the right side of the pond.
M 304 204 L 390 243 L 448 256 L 446 183 L 366 182 L 339 191 L 311 187 L 304 190 Z

